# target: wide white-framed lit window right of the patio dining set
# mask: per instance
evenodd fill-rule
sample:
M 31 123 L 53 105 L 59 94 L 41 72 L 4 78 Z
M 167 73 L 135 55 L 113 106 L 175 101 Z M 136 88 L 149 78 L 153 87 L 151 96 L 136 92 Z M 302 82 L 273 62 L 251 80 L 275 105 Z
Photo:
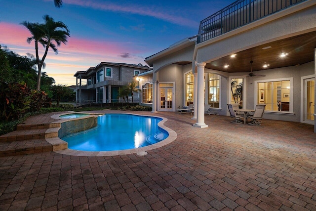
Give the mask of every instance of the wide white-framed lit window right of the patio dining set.
M 257 83 L 257 104 L 266 104 L 265 111 L 291 112 L 291 80 Z

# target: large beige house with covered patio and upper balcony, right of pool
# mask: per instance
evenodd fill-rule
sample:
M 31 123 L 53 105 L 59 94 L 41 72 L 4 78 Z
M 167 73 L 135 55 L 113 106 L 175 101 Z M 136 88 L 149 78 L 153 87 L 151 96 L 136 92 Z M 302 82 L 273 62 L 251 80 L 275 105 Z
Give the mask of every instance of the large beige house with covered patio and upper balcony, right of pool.
M 207 127 L 204 104 L 219 115 L 231 103 L 266 104 L 265 119 L 316 132 L 315 20 L 316 0 L 237 0 L 202 20 L 197 36 L 145 59 L 153 70 L 139 75 L 142 104 L 157 112 L 194 103 L 195 127 Z

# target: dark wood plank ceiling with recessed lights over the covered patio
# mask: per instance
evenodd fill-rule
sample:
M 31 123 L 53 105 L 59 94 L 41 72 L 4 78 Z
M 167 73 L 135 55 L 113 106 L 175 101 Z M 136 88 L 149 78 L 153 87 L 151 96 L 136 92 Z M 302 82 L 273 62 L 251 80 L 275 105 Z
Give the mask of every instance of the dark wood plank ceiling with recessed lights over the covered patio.
M 252 71 L 301 65 L 314 61 L 315 48 L 316 31 L 235 52 L 234 58 L 222 57 L 207 63 L 205 68 L 236 73 L 250 72 L 250 61 L 253 61 Z M 281 53 L 287 55 L 280 57 Z M 264 68 L 264 64 L 269 66 Z M 228 68 L 225 65 L 229 65 Z

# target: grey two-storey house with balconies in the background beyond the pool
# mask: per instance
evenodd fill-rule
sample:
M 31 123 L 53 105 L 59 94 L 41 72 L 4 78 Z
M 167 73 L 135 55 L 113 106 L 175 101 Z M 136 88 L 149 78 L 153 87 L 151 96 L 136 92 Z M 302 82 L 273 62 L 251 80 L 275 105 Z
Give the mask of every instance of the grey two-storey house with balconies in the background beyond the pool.
M 101 62 L 86 71 L 79 71 L 76 77 L 76 101 L 84 103 L 123 102 L 118 97 L 119 87 L 134 80 L 134 76 L 151 70 L 141 64 Z M 134 102 L 139 102 L 139 93 L 134 94 Z

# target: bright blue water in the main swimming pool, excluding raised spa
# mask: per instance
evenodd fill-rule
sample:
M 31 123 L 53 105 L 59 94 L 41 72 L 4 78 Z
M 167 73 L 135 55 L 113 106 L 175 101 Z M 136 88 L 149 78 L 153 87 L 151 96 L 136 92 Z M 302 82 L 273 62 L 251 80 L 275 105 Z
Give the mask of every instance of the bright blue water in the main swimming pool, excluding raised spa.
M 98 117 L 98 126 L 64 136 L 68 148 L 84 151 L 135 149 L 158 143 L 168 132 L 158 127 L 162 119 L 130 114 L 106 114 Z

